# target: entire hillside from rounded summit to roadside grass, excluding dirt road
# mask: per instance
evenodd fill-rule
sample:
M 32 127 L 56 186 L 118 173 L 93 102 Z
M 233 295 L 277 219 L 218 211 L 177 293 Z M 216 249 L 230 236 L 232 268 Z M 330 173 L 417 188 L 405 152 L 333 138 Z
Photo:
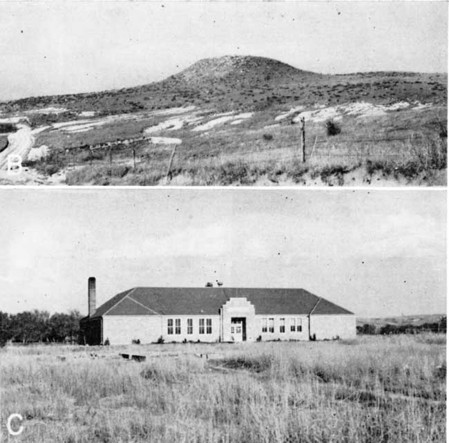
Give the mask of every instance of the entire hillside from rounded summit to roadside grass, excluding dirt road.
M 1 103 L 0 112 L 26 118 L 39 132 L 35 144 L 50 149 L 28 167 L 70 185 L 164 184 L 173 144 L 174 185 L 446 180 L 446 74 L 322 75 L 227 56 L 161 82 L 30 97 Z

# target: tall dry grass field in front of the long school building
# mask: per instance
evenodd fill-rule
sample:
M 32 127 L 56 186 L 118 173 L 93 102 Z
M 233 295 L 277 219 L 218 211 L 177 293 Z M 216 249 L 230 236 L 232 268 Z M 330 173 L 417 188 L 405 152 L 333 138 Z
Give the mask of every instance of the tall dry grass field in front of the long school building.
M 3 441 L 446 441 L 446 335 L 0 352 Z

